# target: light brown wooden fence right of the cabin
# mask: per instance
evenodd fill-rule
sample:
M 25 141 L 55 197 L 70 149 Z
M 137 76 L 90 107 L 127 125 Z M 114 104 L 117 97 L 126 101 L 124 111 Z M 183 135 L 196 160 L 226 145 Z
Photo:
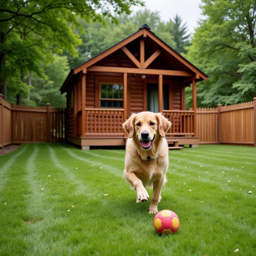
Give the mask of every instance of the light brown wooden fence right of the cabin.
M 197 108 L 200 144 L 241 144 L 256 147 L 256 98 L 217 108 Z

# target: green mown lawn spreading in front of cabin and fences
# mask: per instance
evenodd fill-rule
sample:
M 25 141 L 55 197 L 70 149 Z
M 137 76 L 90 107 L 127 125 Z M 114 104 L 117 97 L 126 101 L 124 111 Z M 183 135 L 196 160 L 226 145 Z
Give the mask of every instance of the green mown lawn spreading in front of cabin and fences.
M 52 143 L 0 156 L 0 254 L 256 255 L 256 148 L 169 151 L 158 210 L 180 218 L 170 236 L 156 234 L 149 201 L 135 203 L 124 153 Z

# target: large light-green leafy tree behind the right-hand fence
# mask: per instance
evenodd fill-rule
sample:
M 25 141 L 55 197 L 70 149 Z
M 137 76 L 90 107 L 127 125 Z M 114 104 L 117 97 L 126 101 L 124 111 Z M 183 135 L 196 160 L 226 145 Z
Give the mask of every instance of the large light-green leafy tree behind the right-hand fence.
M 198 84 L 198 105 L 251 101 L 256 92 L 255 0 L 203 0 L 204 20 L 186 57 L 209 75 Z

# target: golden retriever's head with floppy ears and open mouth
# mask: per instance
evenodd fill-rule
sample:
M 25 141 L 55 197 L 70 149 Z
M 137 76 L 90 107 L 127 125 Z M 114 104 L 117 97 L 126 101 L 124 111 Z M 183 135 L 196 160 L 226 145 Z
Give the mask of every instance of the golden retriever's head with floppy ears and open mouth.
M 141 143 L 141 147 L 149 150 L 155 138 L 158 135 L 164 137 L 171 124 L 161 113 L 144 111 L 132 114 L 124 122 L 123 127 L 129 133 L 129 138 L 136 136 Z

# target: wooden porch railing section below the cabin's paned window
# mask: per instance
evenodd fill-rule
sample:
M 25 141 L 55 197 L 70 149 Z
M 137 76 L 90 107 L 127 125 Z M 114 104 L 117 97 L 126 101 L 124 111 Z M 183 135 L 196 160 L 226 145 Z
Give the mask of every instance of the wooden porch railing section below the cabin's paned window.
M 85 108 L 86 135 L 124 135 L 123 108 Z

